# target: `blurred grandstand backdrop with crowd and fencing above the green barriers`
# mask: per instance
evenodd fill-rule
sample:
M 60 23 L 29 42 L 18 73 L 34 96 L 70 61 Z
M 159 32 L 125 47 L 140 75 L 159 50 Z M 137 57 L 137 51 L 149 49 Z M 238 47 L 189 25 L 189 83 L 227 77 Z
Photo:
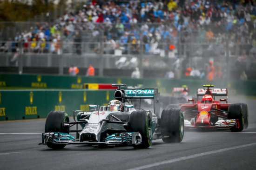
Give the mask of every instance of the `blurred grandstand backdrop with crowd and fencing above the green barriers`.
M 0 72 L 256 79 L 255 0 L 0 0 Z

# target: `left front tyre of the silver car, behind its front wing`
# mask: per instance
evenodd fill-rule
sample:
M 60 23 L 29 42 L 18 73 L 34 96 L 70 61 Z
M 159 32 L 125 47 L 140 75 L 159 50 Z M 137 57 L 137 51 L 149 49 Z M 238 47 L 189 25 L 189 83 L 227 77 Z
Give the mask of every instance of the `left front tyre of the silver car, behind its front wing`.
M 45 132 L 69 133 L 69 127 L 64 127 L 63 122 L 69 122 L 66 112 L 51 111 L 45 121 Z M 52 149 L 63 149 L 66 145 L 47 142 L 47 146 Z

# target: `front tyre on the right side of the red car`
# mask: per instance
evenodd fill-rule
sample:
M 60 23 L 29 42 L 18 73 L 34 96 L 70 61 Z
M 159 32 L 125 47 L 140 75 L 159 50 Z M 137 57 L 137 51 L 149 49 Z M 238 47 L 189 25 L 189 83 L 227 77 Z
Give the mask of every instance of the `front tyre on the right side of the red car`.
M 239 127 L 231 127 L 232 132 L 243 131 L 244 121 L 243 121 L 243 108 L 241 103 L 235 103 L 229 105 L 228 119 L 236 119 L 239 122 Z

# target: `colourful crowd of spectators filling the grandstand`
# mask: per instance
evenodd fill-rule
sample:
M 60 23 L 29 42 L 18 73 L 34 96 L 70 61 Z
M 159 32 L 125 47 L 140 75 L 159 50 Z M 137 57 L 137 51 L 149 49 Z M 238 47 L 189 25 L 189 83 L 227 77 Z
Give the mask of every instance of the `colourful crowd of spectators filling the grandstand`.
M 22 41 L 24 52 L 59 53 L 62 38 L 73 42 L 78 54 L 81 42 L 91 42 L 90 48 L 99 53 L 101 49 L 93 43 L 102 41 L 103 53 L 114 54 L 115 49 L 121 49 L 122 53 L 143 50 L 144 54 L 160 55 L 161 50 L 170 50 L 170 44 L 208 43 L 203 48 L 211 49 L 211 43 L 224 44 L 226 35 L 231 54 L 239 44 L 252 56 L 249 63 L 256 62 L 256 50 L 252 51 L 256 45 L 253 0 L 92 0 L 54 21 L 37 23 L 17 34 L 14 42 L 4 41 L 0 50 L 15 52 Z

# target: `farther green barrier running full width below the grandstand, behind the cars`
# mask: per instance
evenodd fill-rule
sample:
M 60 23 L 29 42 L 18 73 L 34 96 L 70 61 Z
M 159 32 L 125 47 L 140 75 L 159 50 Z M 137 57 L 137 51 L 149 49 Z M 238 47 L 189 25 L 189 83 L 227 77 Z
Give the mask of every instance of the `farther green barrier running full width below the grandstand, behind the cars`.
M 0 74 L 0 89 L 32 88 L 32 89 L 83 89 L 86 83 L 127 83 L 128 86 L 158 88 L 162 94 L 171 94 L 172 88 L 187 85 L 189 92 L 195 94 L 196 88 L 203 84 L 214 84 L 216 88 L 228 88 L 229 94 L 256 96 L 256 81 L 217 80 L 207 82 L 196 77 L 182 79 L 144 78 L 132 79 L 121 77 L 86 77 L 86 76 L 52 76 L 52 75 L 19 75 Z

